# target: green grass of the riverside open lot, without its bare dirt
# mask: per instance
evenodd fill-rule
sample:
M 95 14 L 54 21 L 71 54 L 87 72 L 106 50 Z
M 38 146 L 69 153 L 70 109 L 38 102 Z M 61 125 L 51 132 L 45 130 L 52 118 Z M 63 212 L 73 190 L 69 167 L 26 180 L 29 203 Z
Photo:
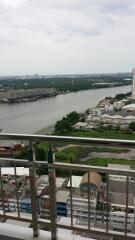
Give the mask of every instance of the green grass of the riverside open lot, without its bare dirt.
M 69 136 L 76 136 L 76 137 L 93 137 L 93 138 L 109 138 L 109 139 L 127 139 L 127 140 L 135 140 L 135 133 L 131 132 L 116 132 L 114 130 L 96 130 L 96 131 L 80 131 L 75 130 L 68 134 Z M 65 146 L 65 149 L 58 150 L 58 147 Z M 93 166 L 107 166 L 109 163 L 114 164 L 127 164 L 131 166 L 135 166 L 135 160 L 125 160 L 125 159 L 114 159 L 111 158 L 103 158 L 103 157 L 96 157 L 90 159 L 89 154 L 91 152 L 109 152 L 109 153 L 123 153 L 128 152 L 129 149 L 120 149 L 120 148 L 107 148 L 107 147 L 92 147 L 92 146 L 73 146 L 68 147 L 65 143 L 53 143 L 52 147 L 55 152 L 56 161 L 58 162 L 65 162 L 65 163 L 78 163 L 78 164 L 86 164 L 86 165 L 93 165 Z M 37 148 L 39 149 L 39 154 L 44 155 L 41 151 L 45 151 L 46 160 L 47 160 L 47 150 L 48 144 L 41 143 L 38 144 Z M 44 157 L 44 156 L 43 156 Z M 84 158 L 84 160 L 83 160 Z M 86 160 L 85 160 L 86 158 Z

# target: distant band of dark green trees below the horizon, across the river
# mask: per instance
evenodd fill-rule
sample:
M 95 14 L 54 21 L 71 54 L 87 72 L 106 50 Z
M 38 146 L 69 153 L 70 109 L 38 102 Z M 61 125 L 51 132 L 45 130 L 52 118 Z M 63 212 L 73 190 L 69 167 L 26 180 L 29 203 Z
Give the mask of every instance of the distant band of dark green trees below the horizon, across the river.
M 100 84 L 102 83 L 102 84 Z M 79 91 L 91 88 L 105 88 L 109 86 L 129 85 L 131 82 L 125 80 L 122 74 L 95 74 L 95 75 L 72 75 L 72 76 L 41 76 L 40 78 L 21 77 L 0 79 L 3 89 L 20 88 L 55 88 L 59 92 Z

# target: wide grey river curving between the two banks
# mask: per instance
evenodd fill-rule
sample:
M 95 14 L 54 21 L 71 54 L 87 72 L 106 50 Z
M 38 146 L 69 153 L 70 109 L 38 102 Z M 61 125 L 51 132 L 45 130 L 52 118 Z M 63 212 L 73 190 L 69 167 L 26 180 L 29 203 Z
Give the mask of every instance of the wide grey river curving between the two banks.
M 131 91 L 131 86 L 61 94 L 37 102 L 0 104 L 0 128 L 9 133 L 35 133 L 72 111 L 84 111 L 99 100 Z

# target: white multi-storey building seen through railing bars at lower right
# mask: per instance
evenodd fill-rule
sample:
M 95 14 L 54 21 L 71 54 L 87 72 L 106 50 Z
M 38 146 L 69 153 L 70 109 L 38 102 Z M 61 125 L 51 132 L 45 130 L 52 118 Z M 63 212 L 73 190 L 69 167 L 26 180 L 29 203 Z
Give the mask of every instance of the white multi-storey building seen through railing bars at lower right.
M 77 225 L 88 225 L 88 199 L 73 198 L 72 199 L 72 214 L 76 219 Z M 67 202 L 67 216 L 71 217 L 71 201 L 70 198 Z M 90 222 L 91 226 L 95 223 L 106 223 L 109 220 L 110 226 L 113 230 L 125 230 L 126 214 L 123 211 L 109 212 L 107 218 L 106 211 L 96 210 L 96 199 L 90 200 Z M 127 231 L 131 232 L 135 223 L 135 215 L 133 213 L 127 214 Z

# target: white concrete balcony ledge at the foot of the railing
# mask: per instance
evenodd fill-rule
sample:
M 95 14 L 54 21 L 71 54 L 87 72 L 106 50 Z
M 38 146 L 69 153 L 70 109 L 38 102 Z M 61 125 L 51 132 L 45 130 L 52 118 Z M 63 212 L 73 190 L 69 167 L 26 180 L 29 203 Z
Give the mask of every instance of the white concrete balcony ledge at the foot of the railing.
M 0 240 L 51 240 L 51 233 L 40 230 L 39 237 L 33 237 L 32 228 L 15 226 L 7 223 L 0 223 Z M 72 234 L 71 231 L 59 230 L 58 240 L 86 240 Z M 89 240 L 94 240 L 89 238 Z

